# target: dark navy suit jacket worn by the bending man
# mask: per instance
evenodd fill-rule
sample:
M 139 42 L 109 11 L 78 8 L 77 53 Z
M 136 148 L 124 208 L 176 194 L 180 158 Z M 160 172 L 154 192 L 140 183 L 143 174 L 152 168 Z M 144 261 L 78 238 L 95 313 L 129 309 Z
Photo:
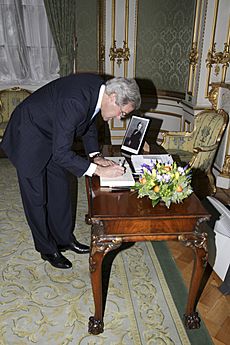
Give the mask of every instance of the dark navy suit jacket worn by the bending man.
M 35 91 L 13 112 L 1 147 L 20 174 L 38 175 L 52 159 L 76 176 L 89 161 L 72 150 L 74 137 L 82 137 L 86 153 L 99 151 L 91 117 L 103 80 L 93 74 L 56 79 Z

